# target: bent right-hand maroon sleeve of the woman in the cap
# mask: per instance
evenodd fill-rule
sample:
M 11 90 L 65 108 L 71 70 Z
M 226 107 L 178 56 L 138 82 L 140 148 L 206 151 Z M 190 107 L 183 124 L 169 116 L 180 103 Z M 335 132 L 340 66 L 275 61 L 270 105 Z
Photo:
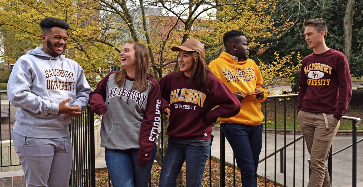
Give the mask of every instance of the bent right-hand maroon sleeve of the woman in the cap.
M 212 125 L 216 122 L 217 118 L 230 118 L 238 114 L 241 110 L 241 103 L 236 96 L 216 77 L 210 78 L 213 81 L 213 88 L 210 93 L 213 100 L 216 101 L 216 105 L 219 107 L 210 110 L 205 115 L 205 121 L 207 124 Z

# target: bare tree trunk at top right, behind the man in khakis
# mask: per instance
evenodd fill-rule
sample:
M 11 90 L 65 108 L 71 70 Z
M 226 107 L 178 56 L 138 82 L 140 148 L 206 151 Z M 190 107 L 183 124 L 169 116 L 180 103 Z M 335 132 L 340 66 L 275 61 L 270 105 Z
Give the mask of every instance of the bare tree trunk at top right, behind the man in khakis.
M 354 16 L 354 0 L 348 0 L 347 7 L 344 15 L 344 44 L 343 53 L 350 61 L 351 51 L 352 51 L 352 24 Z

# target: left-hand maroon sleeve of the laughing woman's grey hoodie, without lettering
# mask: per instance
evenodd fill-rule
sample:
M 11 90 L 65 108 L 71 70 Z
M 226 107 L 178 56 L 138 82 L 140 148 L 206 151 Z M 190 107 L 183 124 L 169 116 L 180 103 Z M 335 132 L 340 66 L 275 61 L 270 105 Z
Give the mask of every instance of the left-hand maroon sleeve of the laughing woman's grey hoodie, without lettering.
M 89 103 L 91 110 L 97 115 L 105 114 L 107 111 L 107 105 L 105 103 L 107 96 L 107 82 L 111 74 L 116 72 L 110 72 L 97 84 L 96 89 L 90 93 Z

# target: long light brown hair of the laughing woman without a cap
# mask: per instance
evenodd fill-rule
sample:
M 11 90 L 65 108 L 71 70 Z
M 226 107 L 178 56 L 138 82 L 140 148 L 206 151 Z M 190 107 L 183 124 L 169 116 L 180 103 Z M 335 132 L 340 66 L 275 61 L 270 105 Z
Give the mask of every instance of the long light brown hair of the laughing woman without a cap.
M 146 77 L 150 71 L 150 57 L 147 48 L 138 42 L 126 42 L 134 44 L 135 50 L 135 79 L 132 89 L 144 92 L 148 88 Z M 125 43 L 125 44 L 126 44 Z M 126 69 L 121 69 L 115 75 L 115 83 L 122 86 L 126 81 Z

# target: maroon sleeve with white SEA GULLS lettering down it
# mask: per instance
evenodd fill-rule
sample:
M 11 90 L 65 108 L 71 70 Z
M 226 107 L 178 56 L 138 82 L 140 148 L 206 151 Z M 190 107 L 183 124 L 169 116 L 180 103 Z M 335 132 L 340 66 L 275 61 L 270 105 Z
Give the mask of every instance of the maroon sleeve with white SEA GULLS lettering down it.
M 155 78 L 148 80 L 152 81 L 153 84 L 148 95 L 144 118 L 141 122 L 140 149 L 137 157 L 138 166 L 145 166 L 151 161 L 151 150 L 154 148 L 160 123 L 160 86 Z

